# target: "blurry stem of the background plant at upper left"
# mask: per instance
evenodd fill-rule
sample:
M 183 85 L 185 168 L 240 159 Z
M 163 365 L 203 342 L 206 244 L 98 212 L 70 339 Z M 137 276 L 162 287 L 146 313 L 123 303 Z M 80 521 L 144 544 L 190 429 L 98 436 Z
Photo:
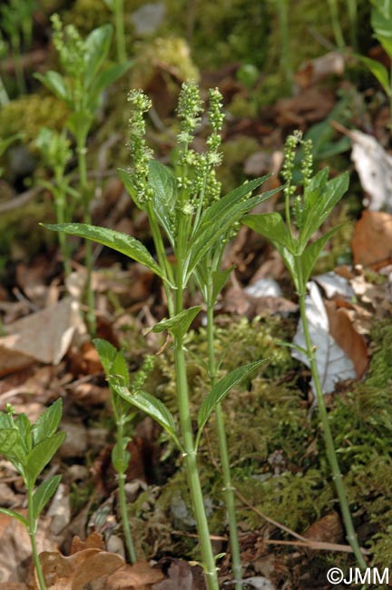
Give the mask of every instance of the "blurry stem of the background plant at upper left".
M 87 167 L 86 167 L 86 138 L 87 133 L 79 133 L 76 138 L 76 150 L 78 156 L 78 168 L 80 177 L 80 189 L 82 193 L 83 201 L 83 222 L 91 224 L 90 214 L 90 199 L 88 195 L 88 184 L 87 184 Z M 90 332 L 90 336 L 93 338 L 96 332 L 96 320 L 95 320 L 95 299 L 93 294 L 93 242 L 86 240 L 85 244 L 85 267 L 87 270 L 87 281 L 86 281 L 86 304 L 87 304 L 87 326 Z

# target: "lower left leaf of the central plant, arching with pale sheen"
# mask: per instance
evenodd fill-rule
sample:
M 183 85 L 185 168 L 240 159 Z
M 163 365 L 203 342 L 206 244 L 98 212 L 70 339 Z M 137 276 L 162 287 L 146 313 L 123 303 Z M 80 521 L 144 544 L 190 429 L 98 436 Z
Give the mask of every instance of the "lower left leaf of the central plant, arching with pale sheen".
M 177 446 L 181 447 L 177 438 L 174 418 L 160 399 L 154 398 L 150 393 L 146 393 L 145 391 L 132 393 L 129 388 L 123 386 L 122 379 L 116 378 L 115 376 L 111 378 L 111 385 L 119 396 L 158 422 L 171 435 Z

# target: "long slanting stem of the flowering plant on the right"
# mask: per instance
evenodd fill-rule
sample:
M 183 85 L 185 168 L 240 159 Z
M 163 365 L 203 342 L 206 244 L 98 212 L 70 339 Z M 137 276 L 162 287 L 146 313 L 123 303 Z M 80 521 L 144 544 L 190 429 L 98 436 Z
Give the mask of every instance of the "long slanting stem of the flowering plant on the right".
M 319 405 L 319 416 L 321 418 L 321 424 L 323 427 L 324 432 L 324 441 L 327 449 L 327 456 L 329 465 L 332 470 L 332 479 L 334 481 L 337 493 L 338 493 L 338 500 L 340 504 L 340 510 L 343 517 L 343 522 L 346 528 L 348 543 L 351 546 L 354 555 L 356 556 L 358 565 L 365 569 L 367 567 L 367 563 L 365 561 L 364 556 L 361 553 L 357 534 L 355 532 L 354 524 L 352 521 L 352 516 L 350 513 L 350 509 L 348 506 L 348 497 L 346 494 L 346 487 L 343 483 L 342 474 L 340 471 L 340 467 L 338 464 L 338 457 L 335 450 L 334 440 L 332 437 L 332 432 L 329 427 L 328 421 L 328 412 L 324 401 L 324 395 L 322 392 L 320 379 L 319 379 L 319 369 L 316 362 L 316 350 L 312 345 L 310 339 L 310 332 L 309 332 L 309 323 L 308 318 L 306 315 L 306 305 L 305 305 L 305 298 L 306 298 L 306 285 L 304 284 L 303 274 L 302 274 L 302 266 L 299 257 L 296 257 L 296 270 L 297 276 L 299 280 L 299 311 L 300 317 L 302 322 L 302 327 L 304 331 L 304 338 L 306 342 L 306 349 L 307 355 L 310 362 L 310 371 L 314 382 L 314 387 L 316 389 L 316 396 Z

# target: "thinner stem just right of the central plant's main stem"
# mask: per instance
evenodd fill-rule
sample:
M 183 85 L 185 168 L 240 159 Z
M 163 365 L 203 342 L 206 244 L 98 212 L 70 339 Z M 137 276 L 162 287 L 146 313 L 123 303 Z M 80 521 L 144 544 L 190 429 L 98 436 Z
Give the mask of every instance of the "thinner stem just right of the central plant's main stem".
M 213 303 L 209 302 L 207 306 L 207 338 L 208 338 L 208 352 L 209 352 L 209 369 L 211 387 L 214 386 L 217 376 L 217 368 L 214 352 L 214 319 L 213 319 Z M 226 511 L 229 520 L 230 531 L 230 550 L 231 550 L 231 566 L 234 575 L 235 590 L 241 590 L 242 585 L 242 567 L 240 564 L 240 541 L 238 536 L 237 516 L 235 509 L 234 490 L 231 482 L 230 461 L 228 443 L 226 437 L 226 429 L 221 405 L 218 404 L 215 408 L 215 419 L 218 431 L 218 445 L 220 449 L 220 464 L 223 477 L 223 492 L 226 504 Z

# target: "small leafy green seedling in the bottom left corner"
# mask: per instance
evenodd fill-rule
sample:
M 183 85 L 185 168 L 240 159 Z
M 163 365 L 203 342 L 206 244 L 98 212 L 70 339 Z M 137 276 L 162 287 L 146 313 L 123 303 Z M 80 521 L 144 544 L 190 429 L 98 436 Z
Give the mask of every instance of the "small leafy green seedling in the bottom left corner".
M 34 487 L 44 467 L 64 442 L 65 433 L 56 432 L 62 411 L 63 402 L 59 398 L 41 414 L 34 424 L 31 424 L 25 414 L 14 417 L 14 408 L 10 405 L 7 405 L 5 412 L 0 412 L 0 454 L 14 465 L 23 478 L 27 490 L 28 515 L 25 518 L 8 508 L 0 508 L 0 512 L 13 516 L 27 528 L 40 590 L 45 590 L 46 586 L 35 535 L 39 516 L 54 495 L 61 476 L 44 479 L 35 491 Z

